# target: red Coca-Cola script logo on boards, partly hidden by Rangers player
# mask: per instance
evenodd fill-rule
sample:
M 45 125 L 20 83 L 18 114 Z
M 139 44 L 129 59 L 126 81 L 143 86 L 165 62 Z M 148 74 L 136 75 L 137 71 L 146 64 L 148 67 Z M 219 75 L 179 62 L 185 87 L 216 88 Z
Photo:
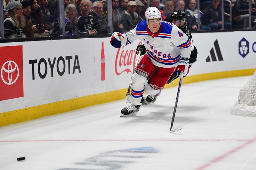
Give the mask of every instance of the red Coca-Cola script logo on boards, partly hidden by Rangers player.
M 141 45 L 141 41 L 138 45 Z M 129 48 L 125 46 L 125 48 Z M 123 72 L 132 72 L 136 61 L 136 49 L 125 49 L 124 46 L 118 48 L 115 61 L 116 75 L 120 75 Z M 142 57 L 141 57 L 142 58 Z M 133 66 L 133 67 L 131 67 Z M 129 68 L 127 68 L 129 67 Z

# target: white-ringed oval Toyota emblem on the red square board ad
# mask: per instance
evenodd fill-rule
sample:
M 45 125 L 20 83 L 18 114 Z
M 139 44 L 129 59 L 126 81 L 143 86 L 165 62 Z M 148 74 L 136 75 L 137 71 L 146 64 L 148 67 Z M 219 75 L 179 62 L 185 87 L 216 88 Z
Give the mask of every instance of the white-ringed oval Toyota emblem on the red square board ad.
M 13 64 L 12 64 L 12 63 L 13 63 Z M 5 68 L 5 65 L 6 65 L 6 64 L 8 64 L 7 69 Z M 12 68 L 13 65 L 14 65 L 14 68 Z M 16 69 L 17 69 L 18 73 L 17 73 L 16 78 L 14 79 L 14 78 L 12 77 L 12 75 L 13 75 L 13 72 L 14 72 Z M 6 82 L 5 79 L 4 79 L 3 71 L 6 72 L 7 75 L 8 75 L 8 82 Z M 13 83 L 15 83 L 15 82 L 17 81 L 18 77 L 19 77 L 19 74 L 20 74 L 20 72 L 19 72 L 19 67 L 18 67 L 18 65 L 17 65 L 14 61 L 11 61 L 11 60 L 5 62 L 4 65 L 3 65 L 3 67 L 2 67 L 2 69 L 1 69 L 1 78 L 2 78 L 3 82 L 4 82 L 6 85 L 12 85 Z M 13 80 L 13 79 L 14 79 L 14 80 Z

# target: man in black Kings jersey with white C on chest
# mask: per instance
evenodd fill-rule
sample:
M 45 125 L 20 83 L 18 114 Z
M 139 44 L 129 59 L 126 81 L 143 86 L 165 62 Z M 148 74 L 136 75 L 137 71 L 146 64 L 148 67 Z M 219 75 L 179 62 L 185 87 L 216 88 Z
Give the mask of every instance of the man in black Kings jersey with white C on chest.
M 92 2 L 89 0 L 82 0 L 80 4 L 81 16 L 77 19 L 77 29 L 81 35 L 96 35 L 97 31 L 94 28 L 94 19 L 89 15 Z

